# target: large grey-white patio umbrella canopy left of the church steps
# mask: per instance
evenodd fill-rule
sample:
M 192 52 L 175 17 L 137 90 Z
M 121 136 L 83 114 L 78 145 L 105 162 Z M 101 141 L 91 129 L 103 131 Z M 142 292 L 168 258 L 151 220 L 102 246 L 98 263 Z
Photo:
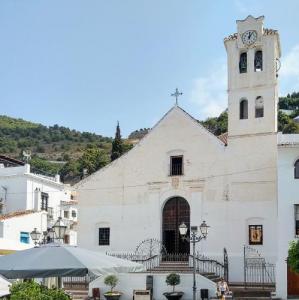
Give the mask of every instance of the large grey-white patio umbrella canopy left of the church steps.
M 0 257 L 0 274 L 6 278 L 47 278 L 101 276 L 111 273 L 144 271 L 142 264 L 101 252 L 47 244 Z

